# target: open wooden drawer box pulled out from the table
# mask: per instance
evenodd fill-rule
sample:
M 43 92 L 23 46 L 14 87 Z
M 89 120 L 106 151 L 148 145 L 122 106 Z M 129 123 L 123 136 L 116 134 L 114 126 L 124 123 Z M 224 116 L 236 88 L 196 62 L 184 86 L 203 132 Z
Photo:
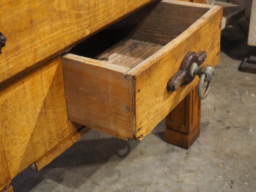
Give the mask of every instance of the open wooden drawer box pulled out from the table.
M 69 119 L 143 139 L 198 83 L 166 89 L 186 53 L 218 63 L 221 19 L 219 6 L 156 1 L 78 44 L 62 57 Z

